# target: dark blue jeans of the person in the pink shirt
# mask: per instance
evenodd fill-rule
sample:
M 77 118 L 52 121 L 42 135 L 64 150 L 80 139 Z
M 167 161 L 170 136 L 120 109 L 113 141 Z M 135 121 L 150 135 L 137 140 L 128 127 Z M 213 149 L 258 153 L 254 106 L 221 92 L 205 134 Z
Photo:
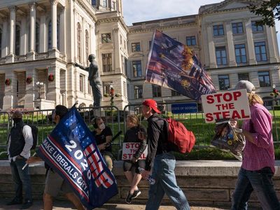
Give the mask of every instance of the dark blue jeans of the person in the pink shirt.
M 232 210 L 247 209 L 247 202 L 253 190 L 258 197 L 262 209 L 280 209 L 272 183 L 272 170 L 269 167 L 259 171 L 248 171 L 241 168 L 238 174 L 235 192 L 232 195 Z

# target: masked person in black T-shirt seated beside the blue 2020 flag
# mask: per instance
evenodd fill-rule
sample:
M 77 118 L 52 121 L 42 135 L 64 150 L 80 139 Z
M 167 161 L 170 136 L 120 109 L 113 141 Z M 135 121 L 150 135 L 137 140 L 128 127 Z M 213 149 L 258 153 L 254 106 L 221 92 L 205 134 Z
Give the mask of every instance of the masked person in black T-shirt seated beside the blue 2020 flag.
M 113 153 L 112 153 L 112 137 L 113 133 L 110 127 L 104 124 L 100 117 L 93 119 L 94 131 L 92 135 L 95 137 L 96 144 L 102 154 L 104 161 L 110 171 L 113 169 Z

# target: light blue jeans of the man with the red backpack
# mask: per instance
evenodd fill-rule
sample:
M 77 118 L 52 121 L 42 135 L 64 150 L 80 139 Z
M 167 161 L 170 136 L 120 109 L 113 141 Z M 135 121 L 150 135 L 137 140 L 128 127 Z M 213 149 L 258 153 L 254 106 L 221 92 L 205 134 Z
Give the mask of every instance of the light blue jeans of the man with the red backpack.
M 172 153 L 163 153 L 155 156 L 152 174 L 155 184 L 150 186 L 146 210 L 159 209 L 165 193 L 176 209 L 190 210 L 185 194 L 176 183 L 175 164 L 176 160 Z

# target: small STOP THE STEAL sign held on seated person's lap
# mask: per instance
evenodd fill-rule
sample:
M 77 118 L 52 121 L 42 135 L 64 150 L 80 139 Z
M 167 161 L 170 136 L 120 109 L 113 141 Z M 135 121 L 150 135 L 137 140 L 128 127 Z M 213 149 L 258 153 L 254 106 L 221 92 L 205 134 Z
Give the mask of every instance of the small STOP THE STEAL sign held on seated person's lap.
M 124 142 L 122 160 L 132 160 L 133 155 L 138 151 L 140 143 L 138 142 Z M 145 160 L 148 155 L 148 146 L 144 153 L 140 156 L 139 160 Z

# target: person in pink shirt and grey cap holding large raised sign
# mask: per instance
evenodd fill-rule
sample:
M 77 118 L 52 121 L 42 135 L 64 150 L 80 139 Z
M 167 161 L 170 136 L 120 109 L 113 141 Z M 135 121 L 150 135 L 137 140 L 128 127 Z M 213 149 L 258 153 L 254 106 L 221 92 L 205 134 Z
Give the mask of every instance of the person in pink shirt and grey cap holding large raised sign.
M 255 87 L 241 80 L 235 90 L 246 89 L 251 119 L 243 120 L 242 133 L 246 137 L 241 169 L 232 195 L 232 210 L 247 209 L 253 190 L 262 209 L 280 209 L 272 176 L 274 175 L 274 146 L 272 138 L 272 115 L 263 106 L 262 99 L 255 94 Z M 231 120 L 232 127 L 237 121 Z

